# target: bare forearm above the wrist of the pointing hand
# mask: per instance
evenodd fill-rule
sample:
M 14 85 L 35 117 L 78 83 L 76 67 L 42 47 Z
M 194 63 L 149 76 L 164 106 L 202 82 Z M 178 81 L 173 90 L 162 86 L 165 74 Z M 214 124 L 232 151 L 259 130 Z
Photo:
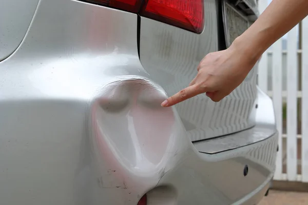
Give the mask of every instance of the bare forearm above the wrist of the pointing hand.
M 308 0 L 273 0 L 233 46 L 257 60 L 262 53 L 308 15 Z

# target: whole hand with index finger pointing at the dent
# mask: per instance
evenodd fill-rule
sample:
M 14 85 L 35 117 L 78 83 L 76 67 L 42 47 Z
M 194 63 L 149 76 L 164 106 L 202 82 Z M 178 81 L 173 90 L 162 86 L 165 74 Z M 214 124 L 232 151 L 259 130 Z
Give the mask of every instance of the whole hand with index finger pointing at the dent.
M 206 93 L 215 102 L 230 94 L 242 83 L 258 59 L 235 47 L 207 54 L 189 86 L 166 99 L 162 106 L 173 106 L 201 93 Z

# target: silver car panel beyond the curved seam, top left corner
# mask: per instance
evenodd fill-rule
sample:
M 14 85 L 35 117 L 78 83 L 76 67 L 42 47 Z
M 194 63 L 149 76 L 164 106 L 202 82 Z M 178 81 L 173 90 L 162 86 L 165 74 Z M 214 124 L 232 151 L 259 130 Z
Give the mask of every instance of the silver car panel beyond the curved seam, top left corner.
M 22 42 L 39 0 L 2 0 L 0 6 L 0 61 Z

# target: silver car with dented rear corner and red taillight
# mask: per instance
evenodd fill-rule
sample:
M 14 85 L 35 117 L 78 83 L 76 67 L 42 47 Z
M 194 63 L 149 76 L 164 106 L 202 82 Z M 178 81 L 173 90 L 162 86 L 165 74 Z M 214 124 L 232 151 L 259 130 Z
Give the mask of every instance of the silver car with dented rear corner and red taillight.
M 257 204 L 274 175 L 257 66 L 229 96 L 171 108 L 255 0 L 0 0 L 0 200 Z

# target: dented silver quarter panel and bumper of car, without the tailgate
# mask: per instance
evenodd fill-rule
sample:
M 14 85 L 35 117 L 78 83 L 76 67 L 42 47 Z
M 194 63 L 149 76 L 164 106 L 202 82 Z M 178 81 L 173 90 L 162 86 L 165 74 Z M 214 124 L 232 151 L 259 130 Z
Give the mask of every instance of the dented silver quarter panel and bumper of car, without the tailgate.
M 136 205 L 147 192 L 154 205 L 261 199 L 277 134 L 199 152 L 178 108 L 160 106 L 165 85 L 141 64 L 137 32 L 137 14 L 40 1 L 22 44 L 0 63 L 3 204 Z

